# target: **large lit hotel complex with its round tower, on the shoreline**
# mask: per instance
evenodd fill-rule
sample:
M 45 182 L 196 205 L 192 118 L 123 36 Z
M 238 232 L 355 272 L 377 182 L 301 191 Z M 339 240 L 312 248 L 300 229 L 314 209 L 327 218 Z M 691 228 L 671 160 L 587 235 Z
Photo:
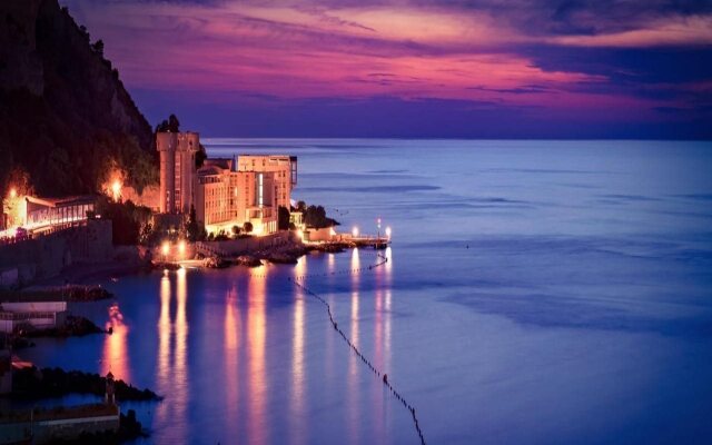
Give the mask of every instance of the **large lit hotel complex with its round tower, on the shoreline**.
M 207 159 L 196 169 L 199 144 L 196 132 L 157 135 L 161 214 L 186 215 L 195 206 L 196 218 L 208 233 L 229 233 L 245 222 L 257 235 L 277 231 L 278 208 L 289 209 L 297 184 L 297 158 L 240 155 Z

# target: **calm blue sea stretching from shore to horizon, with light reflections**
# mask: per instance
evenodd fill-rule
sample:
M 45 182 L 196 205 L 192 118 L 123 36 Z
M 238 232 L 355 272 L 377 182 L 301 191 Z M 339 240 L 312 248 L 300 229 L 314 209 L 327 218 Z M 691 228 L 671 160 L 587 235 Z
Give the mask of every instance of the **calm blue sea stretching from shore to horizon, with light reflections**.
M 165 395 L 145 443 L 712 442 L 712 144 L 207 140 L 299 157 L 294 198 L 373 250 L 107 283 L 76 305 L 112 336 L 42 340 L 40 366 Z M 348 271 L 348 273 L 347 273 Z M 334 273 L 332 275 L 332 273 Z M 85 400 L 69 397 L 63 402 Z

